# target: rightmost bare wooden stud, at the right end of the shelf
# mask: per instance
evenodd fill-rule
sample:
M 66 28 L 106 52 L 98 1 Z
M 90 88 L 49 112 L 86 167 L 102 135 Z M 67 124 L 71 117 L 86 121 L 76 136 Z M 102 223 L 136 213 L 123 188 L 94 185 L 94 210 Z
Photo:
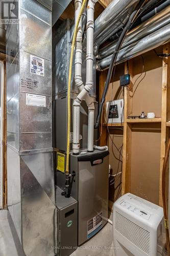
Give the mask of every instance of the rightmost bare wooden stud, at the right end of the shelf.
M 163 53 L 170 53 L 170 44 L 163 46 Z M 170 58 L 163 58 L 162 61 L 162 121 L 161 121 L 161 153 L 160 153 L 160 179 L 159 179 L 159 205 L 162 206 L 162 169 L 166 150 L 166 141 L 169 131 L 166 128 L 167 121 L 170 119 L 169 99 L 170 99 Z M 167 188 L 168 189 L 168 188 Z

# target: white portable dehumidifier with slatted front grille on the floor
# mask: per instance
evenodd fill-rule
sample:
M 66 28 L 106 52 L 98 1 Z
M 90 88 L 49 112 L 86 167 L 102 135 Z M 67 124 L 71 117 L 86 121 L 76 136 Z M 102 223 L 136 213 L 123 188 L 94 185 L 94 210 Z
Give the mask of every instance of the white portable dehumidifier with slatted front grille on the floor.
M 163 208 L 130 193 L 113 206 L 115 256 L 160 256 L 164 241 Z

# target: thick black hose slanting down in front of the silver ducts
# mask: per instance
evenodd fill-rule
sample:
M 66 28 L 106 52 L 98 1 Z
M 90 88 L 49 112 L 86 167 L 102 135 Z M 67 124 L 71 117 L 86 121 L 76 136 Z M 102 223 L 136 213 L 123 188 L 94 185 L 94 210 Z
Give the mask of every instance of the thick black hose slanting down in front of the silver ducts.
M 137 16 L 138 16 L 138 13 L 139 11 L 141 10 L 141 8 L 143 7 L 143 4 L 146 2 L 146 0 L 140 0 L 137 7 L 135 8 L 135 10 L 132 12 L 132 14 L 130 15 L 129 17 L 129 20 L 122 32 L 122 34 L 120 35 L 119 39 L 118 39 L 118 42 L 117 42 L 117 45 L 116 45 L 116 49 L 115 51 L 113 52 L 113 55 L 112 55 L 112 58 L 111 58 L 111 62 L 110 62 L 110 67 L 109 67 L 109 71 L 108 71 L 108 74 L 107 74 L 107 78 L 106 78 L 106 83 L 105 83 L 105 88 L 104 88 L 104 91 L 103 91 L 103 95 L 102 95 L 102 99 L 101 99 L 101 103 L 99 105 L 99 113 L 98 113 L 98 117 L 96 119 L 96 123 L 94 125 L 95 129 L 98 129 L 99 127 L 99 124 L 100 124 L 100 120 L 101 120 L 101 115 L 102 115 L 102 109 L 103 109 L 103 104 L 105 102 L 105 99 L 106 99 L 106 94 L 107 94 L 107 91 L 108 91 L 108 87 L 109 87 L 109 83 L 110 83 L 110 79 L 111 79 L 111 76 L 112 76 L 112 71 L 113 71 L 113 68 L 114 68 L 114 65 L 116 63 L 116 59 L 117 59 L 117 55 L 118 55 L 118 52 L 120 50 L 120 48 L 122 47 L 122 44 L 124 42 L 124 39 L 128 33 L 128 31 L 130 30 L 132 24 L 134 23 L 134 21 L 136 20 Z

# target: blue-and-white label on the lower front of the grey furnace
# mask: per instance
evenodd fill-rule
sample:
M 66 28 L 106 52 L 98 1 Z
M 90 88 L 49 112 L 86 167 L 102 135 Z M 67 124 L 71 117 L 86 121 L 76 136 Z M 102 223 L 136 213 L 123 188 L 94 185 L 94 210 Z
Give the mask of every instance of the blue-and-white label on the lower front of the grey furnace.
M 102 228 L 102 212 L 87 221 L 87 238 L 94 236 Z

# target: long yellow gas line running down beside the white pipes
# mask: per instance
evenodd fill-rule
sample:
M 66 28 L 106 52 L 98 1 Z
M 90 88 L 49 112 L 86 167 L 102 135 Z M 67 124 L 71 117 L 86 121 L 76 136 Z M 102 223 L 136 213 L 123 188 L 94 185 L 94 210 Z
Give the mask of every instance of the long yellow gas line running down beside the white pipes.
M 66 171 L 65 174 L 69 174 L 69 144 L 70 144 L 70 120 L 71 120 L 71 114 L 70 114 L 70 88 L 71 88 L 71 73 L 72 73 L 72 61 L 74 56 L 74 47 L 76 42 L 76 37 L 78 33 L 78 27 L 80 23 L 80 19 L 82 16 L 82 13 L 84 11 L 85 5 L 87 0 L 83 0 L 83 4 L 78 16 L 78 20 L 75 26 L 74 36 L 72 39 L 72 47 L 71 47 L 71 55 L 70 55 L 70 62 L 69 62 L 69 75 L 68 75 L 68 95 L 67 95 L 67 109 L 68 109 L 68 115 L 67 115 L 67 157 L 66 157 Z

